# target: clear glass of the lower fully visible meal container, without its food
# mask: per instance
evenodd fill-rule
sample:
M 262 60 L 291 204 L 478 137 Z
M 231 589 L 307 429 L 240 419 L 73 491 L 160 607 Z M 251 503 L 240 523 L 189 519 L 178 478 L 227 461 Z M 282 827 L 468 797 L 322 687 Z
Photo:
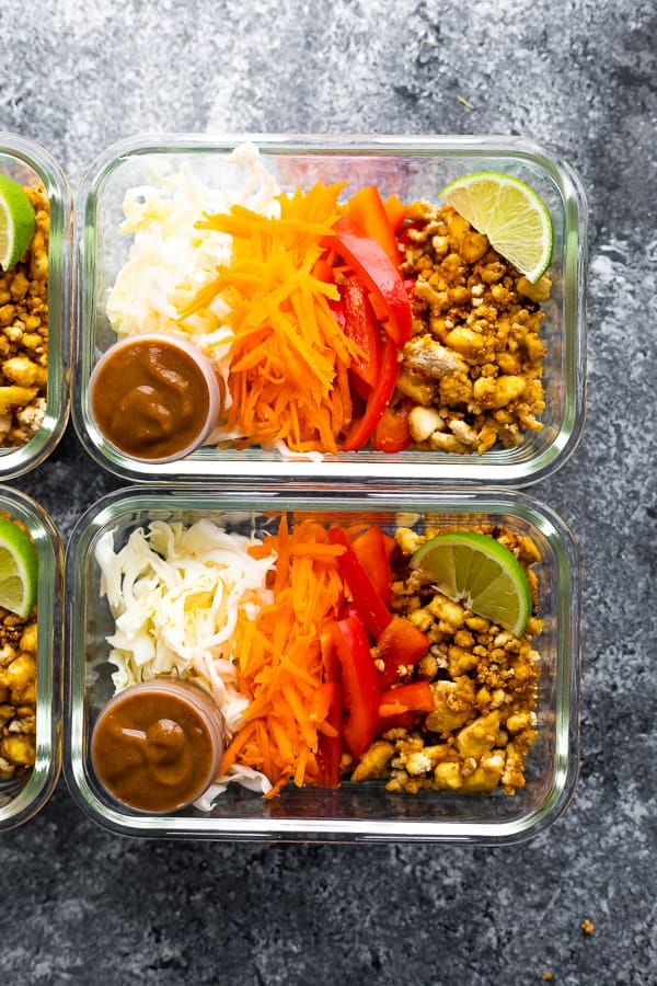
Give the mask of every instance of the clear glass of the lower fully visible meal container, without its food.
M 134 811 L 107 794 L 92 764 L 94 724 L 114 693 L 106 638 L 114 632 L 107 600 L 101 597 L 99 541 L 112 531 L 118 551 L 137 528 L 152 520 L 185 525 L 209 518 L 227 531 L 250 535 L 303 518 L 330 524 L 378 524 L 476 528 L 504 525 L 534 541 L 540 561 L 539 616 L 542 633 L 538 685 L 538 738 L 526 763 L 526 787 L 514 796 L 500 791 L 454 794 L 445 790 L 392 793 L 384 781 L 343 781 L 337 789 L 288 783 L 276 798 L 229 784 L 208 813 L 196 806 L 162 815 Z M 566 525 L 525 493 L 374 490 L 346 484 L 285 489 L 235 484 L 200 492 L 134 486 L 100 500 L 80 519 L 67 551 L 68 674 L 65 771 L 69 790 L 97 824 L 117 834 L 142 837 L 253 840 L 335 840 L 507 844 L 545 829 L 566 809 L 577 780 L 579 757 L 579 563 Z

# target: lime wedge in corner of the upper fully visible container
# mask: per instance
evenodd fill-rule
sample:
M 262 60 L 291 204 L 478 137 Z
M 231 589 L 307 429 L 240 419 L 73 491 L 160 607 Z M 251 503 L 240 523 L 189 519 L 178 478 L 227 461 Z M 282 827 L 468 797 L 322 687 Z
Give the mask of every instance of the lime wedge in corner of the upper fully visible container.
M 552 220 L 533 188 L 508 174 L 480 171 L 446 185 L 440 197 L 488 237 L 534 284 L 552 260 Z

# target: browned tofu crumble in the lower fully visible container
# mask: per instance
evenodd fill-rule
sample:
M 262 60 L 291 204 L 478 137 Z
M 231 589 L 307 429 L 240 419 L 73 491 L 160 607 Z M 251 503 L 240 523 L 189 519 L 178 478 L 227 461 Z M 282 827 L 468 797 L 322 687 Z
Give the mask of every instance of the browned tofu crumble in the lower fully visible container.
M 526 756 L 537 738 L 540 655 L 533 640 L 542 620 L 535 616 L 532 565 L 540 555 L 529 537 L 492 525 L 477 530 L 496 538 L 521 563 L 534 615 L 517 638 L 423 584 L 407 561 L 439 531 L 418 535 L 397 528 L 392 608 L 430 641 L 417 668 L 400 669 L 400 684 L 428 680 L 435 708 L 415 726 L 391 729 L 377 738 L 353 770 L 354 781 L 383 778 L 387 790 L 407 793 L 491 793 L 499 788 L 515 794 L 525 786 Z

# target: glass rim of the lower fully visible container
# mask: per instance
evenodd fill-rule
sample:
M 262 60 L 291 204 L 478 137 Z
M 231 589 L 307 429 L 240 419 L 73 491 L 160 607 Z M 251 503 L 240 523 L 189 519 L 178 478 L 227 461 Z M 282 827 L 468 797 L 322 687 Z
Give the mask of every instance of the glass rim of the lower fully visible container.
M 76 654 L 79 653 L 79 637 L 84 619 L 82 607 L 77 603 L 73 611 L 71 599 L 76 588 L 83 583 L 82 560 L 97 531 L 111 526 L 117 512 L 138 513 L 149 509 L 251 509 L 250 496 L 261 496 L 258 509 L 269 508 L 291 511 L 297 507 L 324 511 L 367 512 L 368 507 L 382 507 L 393 512 L 412 509 L 413 505 L 430 502 L 431 508 L 452 512 L 468 506 L 472 513 L 507 512 L 527 523 L 535 525 L 544 535 L 553 550 L 561 552 L 564 567 L 563 592 L 558 592 L 557 644 L 558 695 L 555 698 L 558 724 L 556 768 L 550 791 L 541 804 L 520 821 L 507 823 L 462 823 L 404 821 L 358 821 L 348 823 L 339 819 L 300 822 L 299 819 L 272 819 L 267 825 L 262 821 L 246 818 L 211 818 L 169 816 L 153 821 L 151 817 L 125 815 L 119 810 L 107 810 L 95 804 L 87 783 L 83 758 L 77 750 L 82 748 L 79 710 L 83 703 L 83 683 L 74 680 Z M 254 508 L 255 509 L 255 508 Z M 448 511 L 449 512 L 449 511 Z M 134 485 L 123 488 L 101 497 L 79 518 L 73 528 L 66 559 L 67 606 L 69 639 L 67 650 L 67 687 L 65 690 L 65 756 L 64 775 L 71 796 L 79 807 L 96 824 L 119 835 L 135 837 L 192 838 L 215 840 L 252 839 L 261 841 L 426 841 L 426 842 L 474 842 L 477 845 L 506 845 L 527 841 L 554 823 L 567 809 L 574 796 L 579 771 L 579 678 L 580 678 L 580 560 L 577 542 L 565 521 L 551 507 L 533 495 L 510 491 L 506 488 L 452 488 L 427 491 L 412 488 L 401 491 L 394 484 L 385 489 L 371 486 L 341 486 L 334 484 L 295 483 L 280 486 L 272 483 L 233 484 L 232 488 L 199 491 L 189 486 L 171 488 L 163 492 L 157 486 Z

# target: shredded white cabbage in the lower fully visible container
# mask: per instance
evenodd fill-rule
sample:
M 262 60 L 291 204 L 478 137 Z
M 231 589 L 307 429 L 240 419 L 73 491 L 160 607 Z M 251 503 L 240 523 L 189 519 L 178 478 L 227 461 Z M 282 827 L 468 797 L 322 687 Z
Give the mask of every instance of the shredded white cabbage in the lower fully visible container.
M 255 541 L 209 519 L 188 527 L 153 520 L 148 530 L 134 530 L 119 551 L 112 530 L 101 536 L 95 558 L 101 596 L 115 621 L 107 638 L 115 691 L 158 676 L 193 678 L 215 699 L 230 741 L 249 704 L 237 687 L 238 615 L 255 619 L 272 601 L 266 575 L 275 555 L 252 558 L 247 549 Z M 270 788 L 263 775 L 237 765 L 198 806 L 209 810 L 231 780 L 263 793 Z

